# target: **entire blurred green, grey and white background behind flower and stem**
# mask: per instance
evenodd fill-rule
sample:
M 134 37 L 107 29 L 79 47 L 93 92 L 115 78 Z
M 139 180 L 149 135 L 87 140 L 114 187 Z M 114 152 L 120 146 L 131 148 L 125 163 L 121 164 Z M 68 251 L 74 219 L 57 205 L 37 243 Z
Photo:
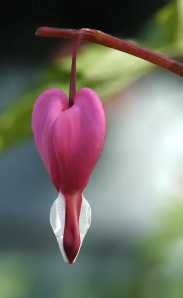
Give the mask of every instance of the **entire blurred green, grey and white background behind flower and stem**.
M 37 27 L 96 28 L 183 61 L 183 0 L 0 5 L 0 298 L 182 298 L 183 78 L 82 44 L 77 88 L 100 95 L 108 132 L 84 191 L 92 224 L 72 266 L 49 223 L 58 194 L 31 112 L 49 87 L 68 94 L 74 44 L 37 37 Z

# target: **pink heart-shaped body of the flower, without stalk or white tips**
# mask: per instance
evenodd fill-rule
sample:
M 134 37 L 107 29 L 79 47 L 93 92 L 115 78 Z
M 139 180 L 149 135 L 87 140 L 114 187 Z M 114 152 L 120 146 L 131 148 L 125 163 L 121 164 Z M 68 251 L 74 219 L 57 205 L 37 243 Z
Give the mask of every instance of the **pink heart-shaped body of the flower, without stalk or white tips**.
M 106 118 L 98 95 L 82 88 L 68 108 L 61 90 L 52 88 L 37 99 L 32 117 L 35 143 L 58 191 L 83 191 L 102 151 Z

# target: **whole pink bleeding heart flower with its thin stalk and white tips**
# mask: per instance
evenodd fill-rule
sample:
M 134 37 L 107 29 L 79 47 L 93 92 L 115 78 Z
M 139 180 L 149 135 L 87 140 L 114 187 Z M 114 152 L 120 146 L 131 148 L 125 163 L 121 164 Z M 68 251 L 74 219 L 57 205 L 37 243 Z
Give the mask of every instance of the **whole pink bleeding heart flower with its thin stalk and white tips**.
M 106 117 L 98 95 L 89 88 L 75 94 L 80 39 L 72 57 L 69 100 L 60 89 L 48 89 L 38 97 L 32 115 L 37 149 L 59 192 L 50 222 L 63 259 L 70 264 L 91 223 L 91 209 L 82 193 L 106 136 Z

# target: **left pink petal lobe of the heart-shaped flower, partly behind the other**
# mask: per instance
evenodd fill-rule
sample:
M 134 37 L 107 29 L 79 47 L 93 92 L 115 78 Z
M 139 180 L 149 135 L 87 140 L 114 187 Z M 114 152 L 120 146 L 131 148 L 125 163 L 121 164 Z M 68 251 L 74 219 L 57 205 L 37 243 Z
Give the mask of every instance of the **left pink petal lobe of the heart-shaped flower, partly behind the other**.
M 67 108 L 66 94 L 60 89 L 51 88 L 38 97 L 32 114 L 34 140 L 56 188 L 60 172 L 53 146 L 53 129 L 56 118 Z

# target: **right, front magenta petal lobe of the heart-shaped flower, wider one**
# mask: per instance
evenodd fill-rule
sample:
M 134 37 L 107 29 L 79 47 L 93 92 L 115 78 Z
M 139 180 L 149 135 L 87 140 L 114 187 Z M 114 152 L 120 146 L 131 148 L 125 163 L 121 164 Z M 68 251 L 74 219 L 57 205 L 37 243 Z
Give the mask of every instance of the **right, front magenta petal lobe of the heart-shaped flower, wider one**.
M 103 149 L 106 118 L 98 95 L 77 92 L 74 105 L 55 121 L 54 148 L 59 161 L 61 191 L 83 190 Z

